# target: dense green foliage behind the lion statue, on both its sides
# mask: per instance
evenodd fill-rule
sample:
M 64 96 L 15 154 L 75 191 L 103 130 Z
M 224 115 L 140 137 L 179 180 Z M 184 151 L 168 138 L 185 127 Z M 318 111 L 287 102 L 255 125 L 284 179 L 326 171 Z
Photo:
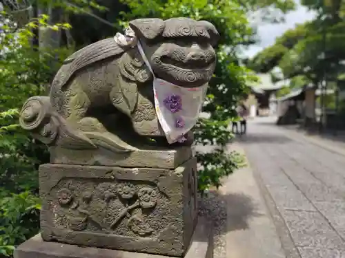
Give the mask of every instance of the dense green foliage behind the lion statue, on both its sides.
M 37 41 L 33 41 L 37 38 L 38 25 L 50 30 L 66 30 L 70 28 L 67 24 L 70 22 L 75 26 L 71 34 L 76 47 L 79 48 L 84 43 L 113 36 L 117 29 L 126 25 L 126 22 L 122 21 L 137 17 L 191 17 L 214 23 L 221 34 L 221 41 L 217 49 L 215 78 L 210 83 L 204 105 L 204 111 L 210 114 L 210 118 L 200 119 L 195 130 L 197 144 L 216 146 L 212 153 L 197 155 L 201 164 L 199 189 L 205 191 L 210 186 L 219 186 L 224 175 L 233 173 L 242 164 L 242 158 L 237 153 L 226 153 L 225 147 L 233 137 L 227 130 L 229 121 L 235 118 L 233 107 L 245 92 L 248 80 L 254 79 L 248 76 L 248 69 L 240 65 L 237 48 L 239 45 L 253 43 L 254 34 L 246 12 L 263 7 L 274 9 L 276 6 L 285 12 L 293 7 L 293 1 L 273 0 L 264 1 L 260 5 L 256 1 L 223 0 L 87 2 L 88 4 L 80 0 L 68 3 L 32 1 L 32 4 L 42 8 L 41 10 L 63 10 L 60 12 L 61 17 L 55 17 L 55 25 L 51 25 L 51 20 L 49 22 L 48 17 L 43 15 L 18 28 L 16 23 L 11 22 L 15 21 L 15 18 L 1 14 L 0 255 L 12 255 L 13 246 L 38 232 L 40 205 L 37 197 L 37 169 L 42 162 L 48 162 L 46 147 L 33 140 L 17 125 L 18 111 L 26 98 L 45 94 L 46 85 L 52 80 L 61 61 L 74 51 L 66 47 L 56 50 L 38 47 L 35 44 Z M 86 16 L 88 12 L 113 21 L 113 27 L 104 25 L 101 19 L 95 20 L 90 15 Z M 92 30 L 83 30 L 85 23 L 90 24 Z M 82 36 L 81 40 L 78 40 L 79 36 Z

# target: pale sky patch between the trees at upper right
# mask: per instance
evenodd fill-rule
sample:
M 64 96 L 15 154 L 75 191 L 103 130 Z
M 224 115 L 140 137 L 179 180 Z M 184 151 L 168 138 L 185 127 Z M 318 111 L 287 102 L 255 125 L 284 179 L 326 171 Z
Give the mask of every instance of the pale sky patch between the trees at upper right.
M 284 23 L 268 24 L 264 23 L 257 27 L 257 32 L 259 34 L 260 43 L 257 45 L 250 46 L 244 54 L 248 57 L 253 57 L 257 52 L 260 52 L 265 47 L 273 45 L 277 36 L 281 36 L 286 32 L 286 30 L 295 28 L 297 23 L 304 23 L 313 19 L 315 14 L 309 12 L 304 6 L 299 5 L 297 2 L 297 9 L 293 12 L 289 12 L 285 16 Z

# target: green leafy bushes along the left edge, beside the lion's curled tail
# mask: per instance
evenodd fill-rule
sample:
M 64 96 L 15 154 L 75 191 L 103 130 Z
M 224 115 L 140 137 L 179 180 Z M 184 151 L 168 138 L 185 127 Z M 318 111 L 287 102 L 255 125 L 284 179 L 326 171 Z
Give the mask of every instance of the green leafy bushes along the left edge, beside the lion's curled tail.
M 23 101 L 45 94 L 45 86 L 57 67 L 45 65 L 66 50 L 38 52 L 31 43 L 32 29 L 48 26 L 48 17 L 34 19 L 17 28 L 11 17 L 1 14 L 0 39 L 0 254 L 11 255 L 12 247 L 37 233 L 39 198 L 37 169 L 48 162 L 46 147 L 17 124 Z M 57 30 L 61 25 L 50 26 Z

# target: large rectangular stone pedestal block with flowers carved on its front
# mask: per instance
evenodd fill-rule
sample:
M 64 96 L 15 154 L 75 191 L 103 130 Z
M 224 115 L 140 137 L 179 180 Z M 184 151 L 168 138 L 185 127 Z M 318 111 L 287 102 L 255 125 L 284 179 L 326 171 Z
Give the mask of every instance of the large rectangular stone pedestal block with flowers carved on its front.
M 174 157 L 179 151 L 186 152 L 172 151 L 170 158 L 178 162 Z M 43 164 L 41 237 L 47 242 L 184 257 L 197 224 L 196 166 L 195 158 L 175 169 Z

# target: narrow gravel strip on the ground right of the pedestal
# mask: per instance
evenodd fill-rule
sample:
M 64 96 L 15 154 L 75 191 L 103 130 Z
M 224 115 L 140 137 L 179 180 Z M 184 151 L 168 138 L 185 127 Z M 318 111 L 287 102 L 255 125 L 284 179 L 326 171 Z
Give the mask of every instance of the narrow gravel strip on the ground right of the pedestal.
M 226 201 L 217 191 L 199 197 L 199 214 L 213 222 L 214 258 L 226 257 Z

